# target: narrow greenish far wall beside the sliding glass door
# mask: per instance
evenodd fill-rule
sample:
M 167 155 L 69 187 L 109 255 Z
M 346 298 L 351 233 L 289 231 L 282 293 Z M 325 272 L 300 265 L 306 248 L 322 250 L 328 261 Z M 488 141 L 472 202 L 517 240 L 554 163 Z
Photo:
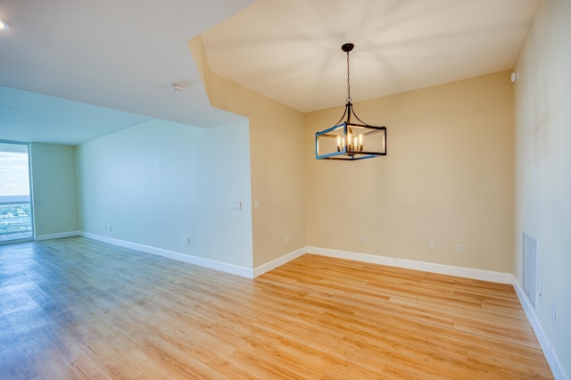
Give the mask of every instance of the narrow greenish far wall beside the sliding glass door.
M 75 234 L 79 229 L 75 147 L 32 143 L 29 153 L 36 237 Z

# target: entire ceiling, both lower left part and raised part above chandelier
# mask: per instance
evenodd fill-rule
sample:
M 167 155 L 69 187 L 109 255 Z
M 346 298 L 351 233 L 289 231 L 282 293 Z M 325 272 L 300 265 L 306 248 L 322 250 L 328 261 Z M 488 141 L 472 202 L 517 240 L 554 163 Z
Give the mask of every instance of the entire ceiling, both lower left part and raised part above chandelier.
M 187 45 L 199 34 L 213 72 L 302 112 L 343 105 L 345 42 L 355 102 L 508 70 L 539 0 L 251 3 L 0 0 L 0 140 L 75 145 L 151 118 L 236 120 L 208 103 Z

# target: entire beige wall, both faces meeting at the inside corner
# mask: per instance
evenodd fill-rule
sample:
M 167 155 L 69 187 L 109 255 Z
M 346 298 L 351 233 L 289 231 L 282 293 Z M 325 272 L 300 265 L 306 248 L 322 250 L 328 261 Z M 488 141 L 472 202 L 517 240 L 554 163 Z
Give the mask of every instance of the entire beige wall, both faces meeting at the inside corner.
M 200 38 L 190 46 L 211 105 L 250 120 L 254 267 L 309 245 L 511 272 L 509 72 L 357 103 L 388 127 L 388 156 L 316 161 L 314 134 L 343 107 L 303 116 L 211 73 Z

